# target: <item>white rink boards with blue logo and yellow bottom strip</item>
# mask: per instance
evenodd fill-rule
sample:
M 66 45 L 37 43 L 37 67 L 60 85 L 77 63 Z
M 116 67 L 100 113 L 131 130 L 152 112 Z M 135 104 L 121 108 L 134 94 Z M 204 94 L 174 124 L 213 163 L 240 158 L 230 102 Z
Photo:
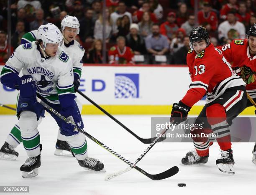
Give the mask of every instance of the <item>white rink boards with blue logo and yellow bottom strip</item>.
M 3 66 L 0 66 L 0 70 Z M 187 66 L 123 66 L 85 65 L 79 90 L 111 114 L 170 114 L 189 89 L 191 80 Z M 0 84 L 0 103 L 15 107 L 18 91 Z M 83 105 L 82 114 L 102 114 L 77 94 Z M 189 114 L 199 114 L 204 100 Z M 15 114 L 0 107 L 0 114 Z M 254 114 L 253 107 L 242 114 Z

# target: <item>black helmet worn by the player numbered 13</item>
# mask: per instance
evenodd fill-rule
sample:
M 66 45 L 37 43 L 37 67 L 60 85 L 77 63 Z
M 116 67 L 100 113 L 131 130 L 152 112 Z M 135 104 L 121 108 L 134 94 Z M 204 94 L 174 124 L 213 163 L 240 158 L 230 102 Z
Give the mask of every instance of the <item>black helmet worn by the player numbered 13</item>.
M 201 41 L 201 40 L 205 40 L 206 43 L 210 44 L 210 36 L 206 28 L 202 26 L 192 28 L 189 35 L 189 41 L 190 41 L 189 45 L 191 50 L 193 50 L 192 43 L 195 41 Z

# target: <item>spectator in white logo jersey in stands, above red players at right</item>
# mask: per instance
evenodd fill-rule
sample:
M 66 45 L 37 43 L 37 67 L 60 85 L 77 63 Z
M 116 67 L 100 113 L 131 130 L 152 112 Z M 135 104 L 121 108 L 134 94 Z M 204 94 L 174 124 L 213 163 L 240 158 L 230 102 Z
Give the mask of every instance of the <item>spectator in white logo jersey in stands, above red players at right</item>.
M 234 11 L 228 12 L 227 20 L 219 25 L 218 38 L 220 43 L 225 43 L 227 39 L 245 38 L 245 26 L 236 20 L 235 14 Z

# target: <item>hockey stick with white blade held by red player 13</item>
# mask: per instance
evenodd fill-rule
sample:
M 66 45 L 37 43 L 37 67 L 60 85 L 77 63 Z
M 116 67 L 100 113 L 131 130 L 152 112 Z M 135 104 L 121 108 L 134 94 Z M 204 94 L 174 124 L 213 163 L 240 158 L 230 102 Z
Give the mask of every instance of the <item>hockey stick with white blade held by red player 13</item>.
M 171 122 L 171 124 L 173 123 L 173 121 Z M 160 139 L 161 135 L 165 134 L 166 132 L 168 131 L 168 128 L 167 129 L 164 129 L 163 132 L 161 132 L 161 134 L 159 135 L 159 137 L 156 137 L 156 139 L 154 140 L 154 142 L 152 142 L 152 144 L 150 144 L 144 152 L 142 152 L 142 154 L 138 157 L 138 159 L 133 162 L 132 165 L 130 165 L 129 167 L 127 167 L 125 170 L 120 170 L 118 172 L 115 172 L 113 174 L 109 174 L 105 177 L 105 181 L 108 181 L 108 180 L 111 180 L 113 179 L 114 177 L 118 176 L 118 175 L 121 175 L 125 172 L 128 172 L 130 170 L 132 170 L 136 165 L 137 163 L 146 155 L 146 153 L 148 153 L 148 151 L 154 146 L 154 144 L 156 144 L 156 142 Z M 177 167 L 178 168 L 178 167 Z

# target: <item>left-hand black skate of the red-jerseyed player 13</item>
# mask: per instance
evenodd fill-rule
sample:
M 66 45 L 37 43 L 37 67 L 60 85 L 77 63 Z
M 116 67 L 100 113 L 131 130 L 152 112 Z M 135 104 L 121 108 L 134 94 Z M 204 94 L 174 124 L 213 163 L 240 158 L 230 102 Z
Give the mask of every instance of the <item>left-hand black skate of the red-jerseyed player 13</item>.
M 200 165 L 205 164 L 208 161 L 209 154 L 205 157 L 200 157 L 197 151 L 194 149 L 191 152 L 187 152 L 186 156 L 182 158 L 183 165 Z

